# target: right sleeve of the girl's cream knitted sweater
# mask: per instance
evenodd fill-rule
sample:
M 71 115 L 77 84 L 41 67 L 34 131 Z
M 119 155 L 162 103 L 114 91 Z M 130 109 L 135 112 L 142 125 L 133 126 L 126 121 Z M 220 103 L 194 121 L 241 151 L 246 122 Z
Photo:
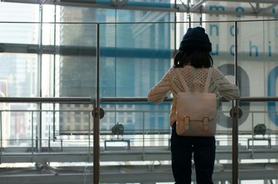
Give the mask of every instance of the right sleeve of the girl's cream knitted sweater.
M 220 72 L 219 69 L 215 68 L 215 85 L 218 88 L 218 92 L 221 97 L 228 101 L 238 99 L 240 97 L 238 87 L 233 83 L 230 83 L 227 78 Z

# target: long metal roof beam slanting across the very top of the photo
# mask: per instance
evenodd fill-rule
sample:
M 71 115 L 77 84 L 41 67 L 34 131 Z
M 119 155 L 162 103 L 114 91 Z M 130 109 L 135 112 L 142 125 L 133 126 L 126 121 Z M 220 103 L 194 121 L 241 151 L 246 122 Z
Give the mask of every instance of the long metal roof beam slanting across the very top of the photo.
M 208 0 L 207 0 L 208 1 Z M 211 2 L 216 0 L 209 0 Z M 276 0 L 257 0 L 257 1 L 251 1 L 251 0 L 222 0 L 223 2 L 238 2 L 238 3 L 271 3 L 275 4 L 277 3 Z M 36 1 L 36 0 L 26 0 L 26 1 L 19 1 L 19 0 L 6 0 L 5 2 L 13 2 L 13 3 L 42 3 L 42 1 Z M 140 10 L 140 11 L 159 11 L 159 12 L 188 12 L 188 8 L 184 7 L 183 4 L 172 4 L 172 3 L 124 3 L 124 5 L 121 6 L 115 6 L 113 3 L 108 3 L 108 1 L 104 1 L 106 3 L 96 3 L 96 1 L 54 1 L 54 0 L 46 0 L 44 1 L 44 4 L 53 4 L 58 6 L 75 6 L 75 7 L 91 7 L 91 8 L 108 8 L 108 9 L 117 9 L 117 10 Z M 217 1 L 219 3 L 219 1 Z M 199 3 L 193 5 L 191 8 L 189 8 L 189 12 L 198 12 L 197 9 L 199 6 L 204 3 L 204 0 L 199 1 Z M 156 6 L 154 6 L 156 5 Z M 225 11 L 218 11 L 218 10 L 209 10 L 209 6 L 204 6 L 202 13 L 211 14 L 211 15 L 251 15 L 251 16 L 265 16 L 265 17 L 278 17 L 277 12 L 268 12 L 265 10 L 264 12 L 261 12 L 261 14 L 257 14 L 256 11 L 254 11 L 253 8 L 245 8 L 245 12 L 237 12 L 235 10 L 235 7 L 226 7 L 227 10 Z M 216 5 L 218 6 L 218 5 Z M 269 8 L 268 8 L 269 10 Z M 199 12 L 198 12 L 199 13 Z

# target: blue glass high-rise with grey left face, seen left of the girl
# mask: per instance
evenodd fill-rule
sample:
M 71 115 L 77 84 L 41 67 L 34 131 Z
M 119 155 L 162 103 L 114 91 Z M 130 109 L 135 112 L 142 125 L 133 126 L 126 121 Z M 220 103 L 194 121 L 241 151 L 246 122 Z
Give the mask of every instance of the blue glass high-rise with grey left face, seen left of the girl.
M 74 13 L 73 13 L 74 12 Z M 72 15 L 75 15 L 72 17 Z M 126 10 L 103 10 L 96 8 L 68 8 L 60 10 L 61 22 L 102 22 L 100 24 L 100 95 L 101 97 L 146 97 L 150 87 L 162 78 L 171 63 L 172 38 L 170 13 Z M 160 24 L 114 24 L 113 22 L 140 22 L 149 19 Z M 111 22 L 111 24 L 107 23 Z M 96 49 L 95 24 L 62 24 L 60 45 L 88 53 Z M 76 51 L 76 50 L 75 50 Z M 96 58 L 88 54 L 78 56 L 60 55 L 60 97 L 94 97 L 96 90 Z M 81 110 L 81 106 L 60 106 L 67 110 Z M 88 110 L 88 106 L 82 106 Z M 126 131 L 169 130 L 168 113 L 108 112 L 113 110 L 169 110 L 170 104 L 154 106 L 147 104 L 113 103 L 101 104 L 107 112 L 101 119 L 101 131 L 108 131 L 117 122 L 124 124 Z M 75 112 L 76 113 L 76 112 Z M 79 113 L 79 112 L 78 112 Z M 75 114 L 74 120 L 60 116 L 61 133 L 88 133 L 88 122 L 80 122 L 83 115 Z M 87 115 L 85 115 L 87 116 Z M 80 118 L 76 118 L 80 117 Z M 78 122 L 76 122 L 78 121 Z M 143 123 L 144 122 L 144 123 Z

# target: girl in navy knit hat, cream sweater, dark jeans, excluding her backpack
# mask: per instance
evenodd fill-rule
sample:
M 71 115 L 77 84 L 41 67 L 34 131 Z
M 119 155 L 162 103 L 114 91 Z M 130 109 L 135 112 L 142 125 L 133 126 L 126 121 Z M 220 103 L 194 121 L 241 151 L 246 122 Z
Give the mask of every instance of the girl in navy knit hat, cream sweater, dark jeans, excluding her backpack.
M 210 55 L 211 42 L 204 28 L 188 28 L 174 56 L 171 67 L 151 90 L 148 101 L 161 103 L 168 92 L 172 92 L 174 101 L 170 112 L 172 173 L 175 183 L 191 183 L 192 155 L 195 163 L 197 184 L 211 184 L 215 161 L 215 137 L 180 136 L 176 132 L 177 94 L 184 91 L 174 70 L 179 69 L 190 92 L 203 92 L 208 68 L 213 67 Z M 215 93 L 218 98 L 238 99 L 236 85 L 230 83 L 222 72 L 213 67 L 208 92 Z M 194 153 L 194 154 L 193 154 Z

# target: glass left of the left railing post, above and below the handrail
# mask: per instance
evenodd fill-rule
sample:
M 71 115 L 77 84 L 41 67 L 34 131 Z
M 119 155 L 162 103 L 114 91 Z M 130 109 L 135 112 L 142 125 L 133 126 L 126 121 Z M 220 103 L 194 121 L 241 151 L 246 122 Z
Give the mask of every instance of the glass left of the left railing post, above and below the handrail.
M 0 37 L 1 97 L 95 97 L 96 24 L 44 23 L 42 37 L 38 25 L 0 24 L 9 28 L 0 31 L 5 35 Z M 85 179 L 75 183 L 91 183 L 86 177 L 92 178 L 92 104 L 1 103 L 0 111 L 1 167 L 78 166 Z M 61 160 L 57 153 L 72 153 L 72 158 Z

